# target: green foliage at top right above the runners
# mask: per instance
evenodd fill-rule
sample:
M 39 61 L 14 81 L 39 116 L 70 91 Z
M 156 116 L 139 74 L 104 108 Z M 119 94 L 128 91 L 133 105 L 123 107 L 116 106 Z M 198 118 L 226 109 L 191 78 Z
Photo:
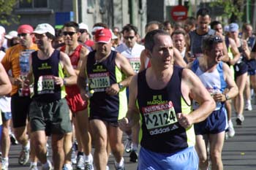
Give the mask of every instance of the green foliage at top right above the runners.
M 241 7 L 244 6 L 243 0 L 216 0 L 210 3 L 210 7 L 223 7 L 223 18 L 230 18 L 231 15 L 236 15 L 239 21 L 242 20 L 244 12 Z

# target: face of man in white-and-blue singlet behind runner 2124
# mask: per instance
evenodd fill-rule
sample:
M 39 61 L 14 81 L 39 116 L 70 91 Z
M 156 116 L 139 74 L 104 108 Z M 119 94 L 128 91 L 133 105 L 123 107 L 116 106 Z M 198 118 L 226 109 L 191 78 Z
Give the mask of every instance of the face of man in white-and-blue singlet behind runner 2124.
M 223 58 L 223 43 L 219 42 L 214 44 L 211 50 L 208 52 L 210 60 L 213 62 L 219 63 Z

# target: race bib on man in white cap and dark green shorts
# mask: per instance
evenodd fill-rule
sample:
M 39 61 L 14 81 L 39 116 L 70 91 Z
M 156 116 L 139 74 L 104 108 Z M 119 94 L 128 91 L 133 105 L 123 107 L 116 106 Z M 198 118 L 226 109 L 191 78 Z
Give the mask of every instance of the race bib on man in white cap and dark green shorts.
M 52 75 L 40 76 L 37 82 L 37 93 L 54 93 L 54 79 Z

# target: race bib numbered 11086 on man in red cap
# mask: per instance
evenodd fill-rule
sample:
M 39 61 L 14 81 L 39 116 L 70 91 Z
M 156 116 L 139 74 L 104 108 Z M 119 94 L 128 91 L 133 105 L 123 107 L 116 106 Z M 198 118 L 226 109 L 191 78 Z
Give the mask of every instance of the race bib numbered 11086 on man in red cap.
M 105 91 L 106 88 L 110 87 L 109 73 L 89 74 L 89 87 L 95 92 Z

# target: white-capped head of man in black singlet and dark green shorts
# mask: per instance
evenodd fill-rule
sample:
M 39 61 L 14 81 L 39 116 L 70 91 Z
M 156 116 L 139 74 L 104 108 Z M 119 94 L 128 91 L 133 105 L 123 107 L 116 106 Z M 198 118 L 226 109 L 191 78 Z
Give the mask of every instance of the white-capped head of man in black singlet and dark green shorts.
M 52 42 L 55 38 L 55 29 L 53 26 L 50 26 L 48 23 L 41 23 L 37 25 L 33 33 L 36 38 L 37 47 L 40 50 L 52 47 Z

